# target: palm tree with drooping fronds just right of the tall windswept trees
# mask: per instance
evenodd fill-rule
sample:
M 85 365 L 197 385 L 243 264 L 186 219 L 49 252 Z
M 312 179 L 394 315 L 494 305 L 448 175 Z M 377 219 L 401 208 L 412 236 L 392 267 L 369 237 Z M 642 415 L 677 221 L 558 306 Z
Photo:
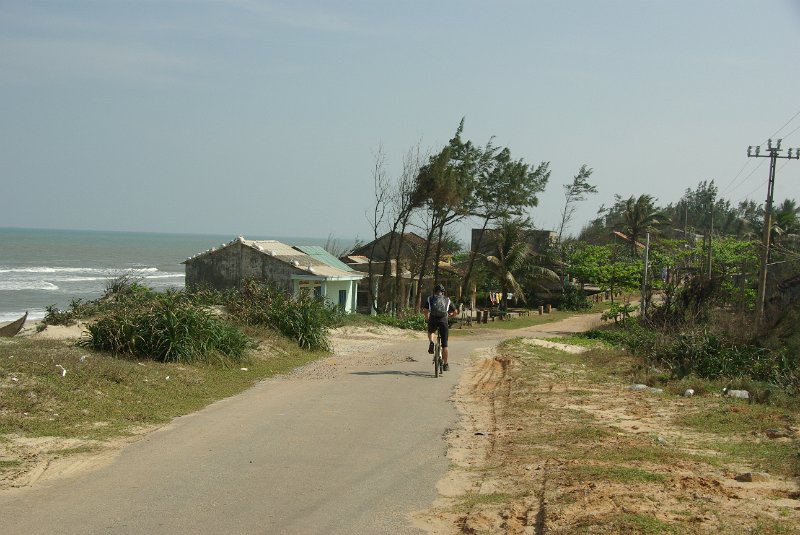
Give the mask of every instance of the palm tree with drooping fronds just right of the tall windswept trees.
M 486 268 L 500 281 L 502 298 L 500 307 L 504 309 L 509 292 L 519 296 L 523 302 L 525 292 L 520 284 L 524 274 L 534 274 L 558 280 L 558 275 L 545 267 L 532 265 L 533 249 L 528 243 L 526 231 L 530 223 L 525 219 L 504 219 L 494 229 L 494 254 L 486 256 Z

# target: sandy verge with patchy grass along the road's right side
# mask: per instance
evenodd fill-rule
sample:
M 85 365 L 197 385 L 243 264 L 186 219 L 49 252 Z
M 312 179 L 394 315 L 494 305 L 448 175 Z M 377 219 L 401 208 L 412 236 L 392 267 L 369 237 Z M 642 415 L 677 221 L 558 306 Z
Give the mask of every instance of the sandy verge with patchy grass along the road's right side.
M 449 439 L 467 454 L 451 480 L 470 484 L 437 511 L 464 533 L 798 533 L 796 405 L 697 378 L 680 382 L 692 397 L 629 390 L 642 361 L 608 342 L 516 339 L 485 366 L 464 405 L 478 412 Z

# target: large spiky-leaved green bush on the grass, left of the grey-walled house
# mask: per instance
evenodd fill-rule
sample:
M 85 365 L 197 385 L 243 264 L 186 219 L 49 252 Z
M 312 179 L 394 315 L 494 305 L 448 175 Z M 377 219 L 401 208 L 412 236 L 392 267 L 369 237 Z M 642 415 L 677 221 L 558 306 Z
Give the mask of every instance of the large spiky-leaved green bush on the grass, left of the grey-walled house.
M 87 326 L 78 345 L 161 362 L 240 361 L 249 339 L 181 292 L 119 303 Z

